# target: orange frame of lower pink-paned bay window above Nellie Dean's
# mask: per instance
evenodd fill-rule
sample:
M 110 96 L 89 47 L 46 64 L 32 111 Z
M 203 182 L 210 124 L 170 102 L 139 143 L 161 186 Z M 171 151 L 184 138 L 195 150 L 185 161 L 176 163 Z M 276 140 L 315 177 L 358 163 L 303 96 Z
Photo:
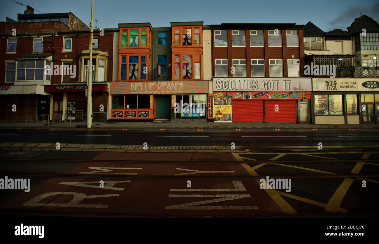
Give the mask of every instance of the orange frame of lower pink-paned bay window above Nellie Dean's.
M 192 78 L 183 79 L 183 55 L 192 55 Z M 175 56 L 179 56 L 179 62 L 175 62 Z M 172 53 L 172 80 L 202 80 L 203 79 L 203 54 L 202 52 L 193 52 L 193 53 Z M 179 79 L 175 78 L 175 64 L 179 63 Z M 200 78 L 194 78 L 195 63 L 200 63 Z

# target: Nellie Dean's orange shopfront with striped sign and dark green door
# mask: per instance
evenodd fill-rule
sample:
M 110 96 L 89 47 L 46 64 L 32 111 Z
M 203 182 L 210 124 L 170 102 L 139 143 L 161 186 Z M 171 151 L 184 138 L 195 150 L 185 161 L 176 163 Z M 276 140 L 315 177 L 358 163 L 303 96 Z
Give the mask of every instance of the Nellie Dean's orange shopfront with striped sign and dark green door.
M 111 119 L 206 120 L 208 81 L 112 82 Z

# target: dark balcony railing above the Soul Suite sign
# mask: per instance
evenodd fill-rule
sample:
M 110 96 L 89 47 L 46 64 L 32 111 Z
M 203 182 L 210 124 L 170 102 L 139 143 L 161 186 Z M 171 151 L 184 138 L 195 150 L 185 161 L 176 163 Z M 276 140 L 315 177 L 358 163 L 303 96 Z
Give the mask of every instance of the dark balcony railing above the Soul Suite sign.
M 337 78 L 378 78 L 378 66 L 336 66 Z M 313 75 L 313 78 L 329 78 L 330 75 Z

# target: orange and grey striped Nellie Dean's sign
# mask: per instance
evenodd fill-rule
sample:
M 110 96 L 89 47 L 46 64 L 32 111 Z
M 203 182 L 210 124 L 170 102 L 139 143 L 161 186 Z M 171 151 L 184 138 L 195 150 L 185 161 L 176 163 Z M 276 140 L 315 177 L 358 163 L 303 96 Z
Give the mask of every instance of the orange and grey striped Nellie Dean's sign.
M 180 94 L 209 92 L 207 80 L 155 81 L 155 82 L 112 82 L 111 94 Z

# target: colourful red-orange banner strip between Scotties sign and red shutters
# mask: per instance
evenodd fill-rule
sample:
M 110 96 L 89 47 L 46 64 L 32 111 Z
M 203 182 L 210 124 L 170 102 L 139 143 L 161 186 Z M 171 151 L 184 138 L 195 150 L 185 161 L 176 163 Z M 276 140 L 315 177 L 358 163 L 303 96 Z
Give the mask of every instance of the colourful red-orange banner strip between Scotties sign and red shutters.
M 226 91 L 226 92 L 216 92 L 213 93 L 215 98 L 231 98 L 235 99 L 258 99 L 258 100 L 299 100 L 299 99 L 310 99 L 310 91 L 282 91 L 282 92 L 251 92 L 251 91 Z

